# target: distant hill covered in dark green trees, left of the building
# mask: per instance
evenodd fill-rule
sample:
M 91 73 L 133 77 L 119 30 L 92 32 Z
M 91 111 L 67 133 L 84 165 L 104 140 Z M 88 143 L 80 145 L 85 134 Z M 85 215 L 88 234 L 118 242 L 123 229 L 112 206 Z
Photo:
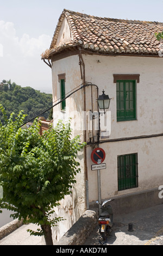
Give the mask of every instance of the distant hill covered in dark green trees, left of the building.
M 23 113 L 28 115 L 24 121 L 28 121 L 52 107 L 52 94 L 41 93 L 29 86 L 18 86 L 15 82 L 11 83 L 11 80 L 3 80 L 0 83 L 0 103 L 5 108 L 8 118 L 12 112 L 16 117 L 18 112 L 23 110 Z M 52 111 L 48 111 L 43 117 L 52 119 L 51 115 Z

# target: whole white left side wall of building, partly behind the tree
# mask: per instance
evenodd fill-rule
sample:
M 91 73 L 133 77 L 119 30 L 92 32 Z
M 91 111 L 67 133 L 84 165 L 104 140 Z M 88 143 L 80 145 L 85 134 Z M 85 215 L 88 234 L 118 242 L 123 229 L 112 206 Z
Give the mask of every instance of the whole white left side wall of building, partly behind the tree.
M 78 56 L 71 56 L 65 59 L 58 60 L 52 63 L 52 81 L 53 81 L 53 102 L 57 102 L 60 99 L 60 83 L 58 81 L 59 74 L 66 74 L 66 94 L 78 87 L 82 80 L 80 78 L 79 58 Z M 77 118 L 71 121 L 72 128 L 80 126 L 80 115 L 83 111 L 83 93 L 79 90 L 76 94 L 68 97 L 66 100 L 66 111 L 60 111 L 60 104 L 53 108 L 53 119 L 55 126 L 58 119 L 67 120 L 73 117 L 74 114 L 78 115 Z M 74 111 L 76 111 L 74 113 Z M 81 121 L 82 124 L 82 121 Z M 83 141 L 83 131 L 81 129 L 74 130 L 72 137 L 80 135 L 81 141 Z M 85 173 L 84 173 L 84 153 L 83 150 L 78 154 L 78 161 L 80 162 L 81 172 L 76 176 L 76 184 L 73 188 L 73 193 L 70 196 L 66 196 L 64 200 L 61 200 L 60 206 L 56 208 L 56 215 L 65 218 L 65 221 L 61 221 L 58 227 L 53 228 L 54 240 L 59 240 L 62 235 L 66 233 L 68 229 L 78 220 L 78 218 L 86 210 L 85 208 Z

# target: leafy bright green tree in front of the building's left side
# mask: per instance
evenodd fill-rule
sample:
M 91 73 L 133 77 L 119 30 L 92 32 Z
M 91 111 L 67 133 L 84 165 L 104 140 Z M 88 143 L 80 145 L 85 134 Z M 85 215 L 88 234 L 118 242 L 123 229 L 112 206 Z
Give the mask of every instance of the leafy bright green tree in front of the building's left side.
M 12 217 L 39 225 L 34 235 L 44 235 L 52 245 L 51 227 L 60 217 L 52 218 L 54 206 L 70 194 L 80 171 L 78 151 L 85 143 L 79 136 L 71 139 L 70 123 L 59 121 L 55 129 L 39 135 L 37 120 L 29 129 L 22 129 L 22 111 L 13 120 L 7 118 L 3 106 L 0 122 L 0 186 L 3 187 L 1 208 L 12 210 Z

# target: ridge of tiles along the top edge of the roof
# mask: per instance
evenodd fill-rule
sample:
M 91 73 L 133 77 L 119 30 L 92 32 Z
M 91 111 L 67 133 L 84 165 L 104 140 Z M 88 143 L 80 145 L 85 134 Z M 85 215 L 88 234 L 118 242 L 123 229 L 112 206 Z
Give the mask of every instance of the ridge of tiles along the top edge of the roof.
M 99 17 L 99 16 L 93 16 L 93 15 L 89 15 L 89 14 L 84 14 L 84 13 L 79 13 L 78 11 L 72 11 L 72 10 L 68 10 L 68 9 L 64 9 L 64 11 L 62 12 L 62 14 L 64 13 L 69 13 L 71 14 L 77 14 L 83 17 L 91 17 L 94 19 L 98 19 L 98 20 L 105 20 L 105 21 L 113 21 L 113 22 L 124 22 L 124 23 L 136 23 L 136 24 L 149 24 L 149 25 L 161 25 L 163 26 L 163 22 L 159 22 L 159 21 L 141 21 L 141 20 L 128 20 L 128 19 L 115 19 L 115 18 L 109 18 L 109 17 Z M 68 15 L 67 15 L 68 16 Z

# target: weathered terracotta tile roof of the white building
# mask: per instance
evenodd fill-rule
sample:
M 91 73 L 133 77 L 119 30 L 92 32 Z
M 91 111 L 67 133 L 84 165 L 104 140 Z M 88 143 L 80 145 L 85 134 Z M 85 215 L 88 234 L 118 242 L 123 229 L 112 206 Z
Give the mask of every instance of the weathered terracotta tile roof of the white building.
M 56 46 L 62 21 L 66 17 L 72 41 Z M 55 29 L 50 51 L 80 45 L 92 52 L 114 54 L 158 54 L 160 42 L 155 32 L 163 31 L 163 23 L 117 20 L 64 10 Z

